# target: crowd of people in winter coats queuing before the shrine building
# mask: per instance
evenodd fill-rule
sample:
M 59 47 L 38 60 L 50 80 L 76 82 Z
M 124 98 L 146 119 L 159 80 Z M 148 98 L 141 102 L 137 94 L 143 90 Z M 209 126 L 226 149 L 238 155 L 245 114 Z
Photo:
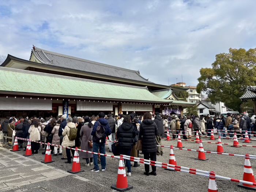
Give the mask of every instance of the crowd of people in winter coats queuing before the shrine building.
M 156 161 L 157 156 L 163 156 L 163 148 L 161 146 L 161 139 L 166 137 L 167 130 L 176 138 L 178 133 L 182 132 L 184 139 L 191 140 L 192 133 L 196 135 L 196 131 L 199 135 L 207 134 L 210 136 L 211 129 L 216 129 L 219 136 L 226 137 L 226 130 L 229 133 L 230 138 L 233 138 L 234 132 L 237 132 L 237 136 L 240 137 L 240 133 L 248 134 L 253 131 L 255 127 L 256 116 L 248 116 L 248 114 L 233 115 L 227 113 L 227 117 L 224 115 L 214 116 L 197 116 L 197 115 L 163 115 L 155 112 L 155 114 L 144 113 L 143 116 L 138 116 L 134 112 L 125 116 L 124 114 L 105 115 L 99 113 L 98 116 L 83 116 L 83 117 L 71 117 L 68 114 L 60 115 L 57 118 L 52 116 L 45 119 L 39 116 L 31 118 L 20 117 L 19 120 L 15 116 L 7 117 L 1 124 L 1 131 L 8 137 L 8 144 L 12 145 L 14 137 L 31 139 L 42 143 L 52 143 L 57 146 L 50 146 L 51 153 L 54 156 L 61 156 L 61 159 L 65 159 L 65 163 L 71 163 L 71 158 L 74 157 L 75 150 L 70 150 L 63 147 L 80 148 L 81 150 L 91 151 L 94 153 L 105 154 L 106 137 L 108 136 L 109 151 L 112 152 L 112 144 L 116 141 L 115 146 L 118 145 L 120 154 L 128 155 L 132 157 L 139 157 L 139 151 L 137 150 L 137 142 L 141 140 L 142 148 L 141 153 L 144 155 L 144 159 L 151 159 Z M 193 131 L 193 132 L 192 132 Z M 244 135 L 243 135 L 244 137 Z M 251 135 L 249 135 L 251 138 Z M 138 142 L 139 143 L 139 142 Z M 24 151 L 27 147 L 27 141 L 18 139 L 18 145 L 20 148 L 24 147 Z M 37 154 L 39 148 L 44 148 L 45 154 L 47 145 L 31 142 L 32 154 Z M 71 155 L 72 153 L 72 155 Z M 106 157 L 103 155 L 86 153 L 79 151 L 79 156 L 82 159 L 86 159 L 86 166 L 93 166 L 92 172 L 99 172 L 99 163 L 101 164 L 101 170 L 106 170 Z M 127 167 L 127 176 L 131 176 L 131 161 L 125 160 L 125 166 Z M 134 162 L 133 167 L 140 166 L 137 162 Z M 157 175 L 156 167 L 152 167 L 150 172 L 150 166 L 145 166 L 144 174 Z

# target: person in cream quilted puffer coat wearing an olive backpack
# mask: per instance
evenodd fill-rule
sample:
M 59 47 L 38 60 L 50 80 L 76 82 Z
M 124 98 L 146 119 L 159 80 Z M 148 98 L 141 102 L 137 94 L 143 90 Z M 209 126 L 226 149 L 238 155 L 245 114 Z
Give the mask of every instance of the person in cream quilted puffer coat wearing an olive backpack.
M 76 128 L 76 125 L 75 125 L 75 123 L 72 123 L 72 118 L 68 117 L 67 118 L 67 125 L 66 125 L 66 127 L 64 128 L 64 130 L 62 132 L 62 135 L 64 136 L 64 138 L 63 138 L 63 142 L 62 142 L 61 145 L 64 146 L 64 147 L 75 148 L 75 139 L 74 140 L 69 140 L 68 139 L 68 136 L 70 134 L 70 128 Z M 71 150 L 71 152 L 72 152 L 72 155 L 74 157 L 75 150 Z M 66 153 L 67 153 L 68 161 L 66 161 L 65 163 L 71 163 L 70 149 L 66 148 Z

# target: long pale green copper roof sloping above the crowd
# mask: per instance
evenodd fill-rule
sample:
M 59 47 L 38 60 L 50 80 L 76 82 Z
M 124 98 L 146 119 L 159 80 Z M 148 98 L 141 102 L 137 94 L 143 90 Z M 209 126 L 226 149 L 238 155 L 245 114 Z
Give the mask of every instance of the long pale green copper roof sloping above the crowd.
M 0 67 L 0 91 L 3 93 L 20 92 L 33 95 L 97 98 L 117 101 L 140 101 L 152 103 L 171 103 L 157 97 L 146 87 L 129 86 L 116 83 L 101 82 L 89 79 L 65 77 Z M 30 94 L 31 95 L 31 94 Z

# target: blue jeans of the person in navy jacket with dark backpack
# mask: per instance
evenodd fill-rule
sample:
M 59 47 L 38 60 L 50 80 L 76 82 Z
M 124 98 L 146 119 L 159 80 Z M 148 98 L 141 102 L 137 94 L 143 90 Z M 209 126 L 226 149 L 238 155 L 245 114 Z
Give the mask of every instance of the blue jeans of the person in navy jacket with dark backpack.
M 98 153 L 98 151 L 99 153 L 105 154 L 105 142 L 104 143 L 93 142 L 93 152 Z M 93 154 L 93 162 L 94 162 L 94 169 L 99 170 L 97 154 Z M 105 167 L 106 167 L 106 157 L 101 155 L 101 169 L 105 169 Z

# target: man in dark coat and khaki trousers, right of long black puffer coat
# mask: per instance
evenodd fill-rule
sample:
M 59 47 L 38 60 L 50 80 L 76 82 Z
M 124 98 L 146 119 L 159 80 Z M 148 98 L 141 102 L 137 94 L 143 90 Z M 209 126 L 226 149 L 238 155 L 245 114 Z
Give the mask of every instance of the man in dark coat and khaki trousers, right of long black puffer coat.
M 158 135 L 155 136 L 155 139 L 157 141 L 157 145 L 162 145 L 162 135 L 165 134 L 163 129 L 163 119 L 161 118 L 160 114 L 158 112 L 155 112 L 155 124 L 157 124 L 158 128 Z M 157 147 L 157 156 L 163 156 L 163 147 Z

